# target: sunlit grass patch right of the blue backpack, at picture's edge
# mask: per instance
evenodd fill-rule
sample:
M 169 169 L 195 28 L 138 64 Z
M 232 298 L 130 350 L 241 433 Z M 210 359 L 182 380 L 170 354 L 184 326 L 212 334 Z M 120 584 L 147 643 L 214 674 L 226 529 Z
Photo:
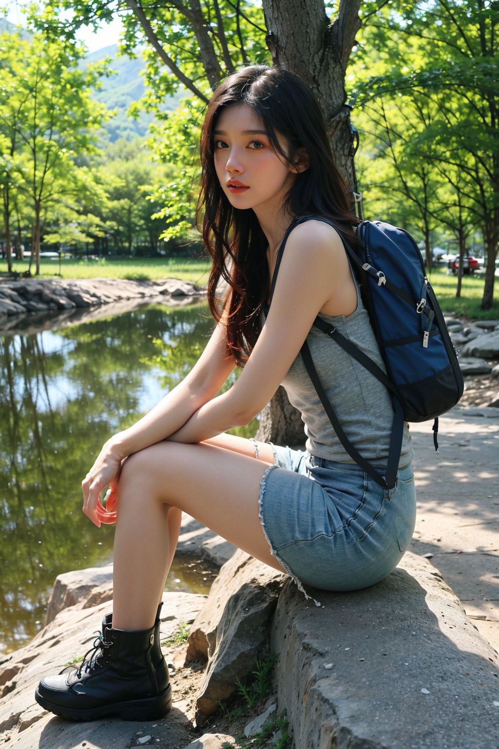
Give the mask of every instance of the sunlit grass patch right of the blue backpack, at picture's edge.
M 492 309 L 480 309 L 483 296 L 483 275 L 462 276 L 461 297 L 456 298 L 457 276 L 447 273 L 447 268 L 436 267 L 429 275 L 438 303 L 444 312 L 454 312 L 458 317 L 477 320 L 499 320 L 499 278 L 495 279 L 495 300 Z

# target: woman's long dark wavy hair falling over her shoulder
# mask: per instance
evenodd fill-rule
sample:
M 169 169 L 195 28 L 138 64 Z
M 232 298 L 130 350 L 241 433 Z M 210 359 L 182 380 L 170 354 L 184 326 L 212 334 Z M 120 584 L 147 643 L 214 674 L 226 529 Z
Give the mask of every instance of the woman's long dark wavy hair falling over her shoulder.
M 200 139 L 202 166 L 198 219 L 203 213 L 203 240 L 213 259 L 208 281 L 208 303 L 216 321 L 222 309 L 227 323 L 227 346 L 236 364 L 248 359 L 262 325 L 269 294 L 267 240 L 253 210 L 234 208 L 218 181 L 214 139 L 224 107 L 247 104 L 257 113 L 269 142 L 285 163 L 296 163 L 307 152 L 309 166 L 296 176 L 287 195 L 292 216 L 313 213 L 339 225 L 355 243 L 349 215 L 348 190 L 334 164 L 322 109 L 307 85 L 288 70 L 252 65 L 228 76 L 209 101 Z M 284 137 L 289 153 L 278 141 Z M 228 291 L 220 298 L 221 279 Z

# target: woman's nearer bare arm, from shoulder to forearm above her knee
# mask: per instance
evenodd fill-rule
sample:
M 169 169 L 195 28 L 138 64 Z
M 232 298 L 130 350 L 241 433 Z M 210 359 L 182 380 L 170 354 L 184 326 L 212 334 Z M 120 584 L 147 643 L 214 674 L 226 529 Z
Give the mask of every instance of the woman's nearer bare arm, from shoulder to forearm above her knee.
M 200 442 L 250 422 L 278 389 L 317 313 L 349 315 L 355 306 L 355 285 L 337 232 L 313 221 L 293 229 L 269 316 L 241 375 L 169 439 Z

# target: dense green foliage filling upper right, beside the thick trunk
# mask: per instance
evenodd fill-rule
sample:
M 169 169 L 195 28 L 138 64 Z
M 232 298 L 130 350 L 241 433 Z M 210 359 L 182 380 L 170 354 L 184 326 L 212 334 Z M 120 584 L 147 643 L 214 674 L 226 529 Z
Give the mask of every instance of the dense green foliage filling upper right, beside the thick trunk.
M 402 211 L 427 246 L 447 235 L 464 247 L 465 237 L 480 228 L 486 252 L 495 257 L 498 5 L 394 0 L 376 13 L 374 3 L 363 5 L 370 13 L 349 79 L 367 201 L 388 214 Z M 493 283 L 492 274 L 491 290 Z

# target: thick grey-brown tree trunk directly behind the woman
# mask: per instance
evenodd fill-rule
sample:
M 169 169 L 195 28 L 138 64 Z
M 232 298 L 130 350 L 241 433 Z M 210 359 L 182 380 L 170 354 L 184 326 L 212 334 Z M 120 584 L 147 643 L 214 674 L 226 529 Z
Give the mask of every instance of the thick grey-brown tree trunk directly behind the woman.
M 323 0 L 263 0 L 272 61 L 299 75 L 316 94 L 325 112 L 338 169 L 350 189 L 354 188 L 354 171 L 344 79 L 355 34 L 361 27 L 360 4 L 361 0 L 340 0 L 337 18 L 329 24 Z M 257 440 L 288 445 L 304 442 L 301 416 L 282 387 L 260 416 Z

